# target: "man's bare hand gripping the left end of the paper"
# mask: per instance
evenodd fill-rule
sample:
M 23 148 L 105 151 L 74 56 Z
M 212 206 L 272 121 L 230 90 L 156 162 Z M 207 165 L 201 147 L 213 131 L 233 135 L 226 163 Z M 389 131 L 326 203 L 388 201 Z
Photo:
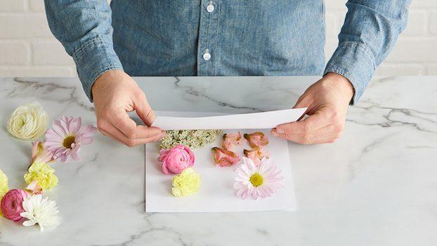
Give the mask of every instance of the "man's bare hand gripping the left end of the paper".
M 121 70 L 100 75 L 91 89 L 96 108 L 97 127 L 103 134 L 129 147 L 157 141 L 165 131 L 150 127 L 155 113 L 136 82 Z M 127 112 L 136 110 L 147 126 L 136 125 Z

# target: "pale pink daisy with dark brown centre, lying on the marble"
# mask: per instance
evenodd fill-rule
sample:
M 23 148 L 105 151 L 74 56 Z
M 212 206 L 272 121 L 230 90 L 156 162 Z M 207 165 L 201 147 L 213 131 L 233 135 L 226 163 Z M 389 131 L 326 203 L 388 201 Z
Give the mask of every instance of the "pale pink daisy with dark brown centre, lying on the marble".
M 93 134 L 96 127 L 89 124 L 81 126 L 81 117 L 60 117 L 53 122 L 51 129 L 46 131 L 47 150 L 53 153 L 55 159 L 60 158 L 62 162 L 71 155 L 73 160 L 79 160 L 78 152 L 82 145 L 93 141 Z

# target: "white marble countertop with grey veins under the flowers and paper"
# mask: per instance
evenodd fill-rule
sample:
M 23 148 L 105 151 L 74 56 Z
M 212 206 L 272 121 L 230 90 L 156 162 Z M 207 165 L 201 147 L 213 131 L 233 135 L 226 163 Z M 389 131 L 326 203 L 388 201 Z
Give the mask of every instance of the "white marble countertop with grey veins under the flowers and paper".
M 290 108 L 317 77 L 136 78 L 155 110 Z M 8 136 L 22 103 L 95 124 L 77 78 L 0 78 L 0 168 L 22 188 L 30 142 Z M 378 77 L 332 144 L 289 144 L 297 212 L 146 214 L 144 146 L 96 134 L 56 163 L 58 228 L 0 219 L 0 245 L 437 245 L 437 77 Z

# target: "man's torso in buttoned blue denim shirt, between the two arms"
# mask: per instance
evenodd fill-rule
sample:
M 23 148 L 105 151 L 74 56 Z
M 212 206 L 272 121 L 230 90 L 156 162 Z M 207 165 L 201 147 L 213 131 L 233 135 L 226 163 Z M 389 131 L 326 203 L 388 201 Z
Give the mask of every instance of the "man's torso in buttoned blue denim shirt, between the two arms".
M 111 7 L 115 51 L 132 76 L 321 75 L 325 65 L 322 0 Z

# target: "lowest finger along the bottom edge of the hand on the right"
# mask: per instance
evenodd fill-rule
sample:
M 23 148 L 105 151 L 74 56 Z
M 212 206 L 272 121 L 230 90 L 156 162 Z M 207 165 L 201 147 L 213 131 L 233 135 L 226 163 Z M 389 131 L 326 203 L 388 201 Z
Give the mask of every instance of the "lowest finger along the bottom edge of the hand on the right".
M 278 136 L 300 144 L 332 143 L 341 136 L 343 127 L 339 124 L 330 124 L 309 134 L 277 134 L 272 130 L 273 136 Z

